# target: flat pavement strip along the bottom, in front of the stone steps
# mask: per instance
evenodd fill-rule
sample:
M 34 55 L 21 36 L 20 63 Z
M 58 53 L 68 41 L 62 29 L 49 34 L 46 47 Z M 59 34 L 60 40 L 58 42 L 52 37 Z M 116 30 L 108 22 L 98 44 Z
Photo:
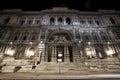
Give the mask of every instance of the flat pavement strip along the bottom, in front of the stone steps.
M 63 74 L 63 73 L 0 73 L 0 80 L 3 79 L 39 79 L 39 80 L 120 80 L 119 73 L 110 74 Z

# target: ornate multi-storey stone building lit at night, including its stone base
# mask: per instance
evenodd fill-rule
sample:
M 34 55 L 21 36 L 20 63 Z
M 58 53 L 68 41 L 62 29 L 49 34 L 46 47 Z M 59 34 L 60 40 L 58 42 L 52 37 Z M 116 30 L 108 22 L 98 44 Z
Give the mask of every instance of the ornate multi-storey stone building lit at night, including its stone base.
M 0 11 L 1 72 L 119 70 L 119 27 L 115 10 Z

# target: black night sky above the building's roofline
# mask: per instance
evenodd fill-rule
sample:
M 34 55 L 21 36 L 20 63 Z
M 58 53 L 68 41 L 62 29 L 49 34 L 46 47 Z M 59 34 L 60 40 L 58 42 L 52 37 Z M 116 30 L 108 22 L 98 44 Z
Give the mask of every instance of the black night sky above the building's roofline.
M 22 9 L 24 11 L 40 11 L 53 6 L 77 9 L 80 11 L 96 11 L 98 9 L 120 10 L 119 0 L 1 0 L 2 9 Z

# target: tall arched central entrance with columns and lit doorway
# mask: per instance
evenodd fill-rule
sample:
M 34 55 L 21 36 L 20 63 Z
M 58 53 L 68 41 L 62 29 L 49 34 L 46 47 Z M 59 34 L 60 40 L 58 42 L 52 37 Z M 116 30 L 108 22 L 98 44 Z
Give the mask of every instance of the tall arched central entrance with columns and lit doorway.
M 51 33 L 46 41 L 47 62 L 73 62 L 73 40 L 72 35 L 66 31 Z

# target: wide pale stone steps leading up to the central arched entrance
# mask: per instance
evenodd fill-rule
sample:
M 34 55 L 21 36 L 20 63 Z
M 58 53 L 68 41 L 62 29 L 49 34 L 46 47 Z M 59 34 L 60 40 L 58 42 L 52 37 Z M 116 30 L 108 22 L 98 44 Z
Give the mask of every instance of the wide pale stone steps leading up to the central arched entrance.
M 74 72 L 78 73 L 79 71 L 86 70 L 87 67 L 83 63 L 73 63 L 73 62 L 42 62 L 36 66 L 32 72 L 39 73 L 69 73 Z

